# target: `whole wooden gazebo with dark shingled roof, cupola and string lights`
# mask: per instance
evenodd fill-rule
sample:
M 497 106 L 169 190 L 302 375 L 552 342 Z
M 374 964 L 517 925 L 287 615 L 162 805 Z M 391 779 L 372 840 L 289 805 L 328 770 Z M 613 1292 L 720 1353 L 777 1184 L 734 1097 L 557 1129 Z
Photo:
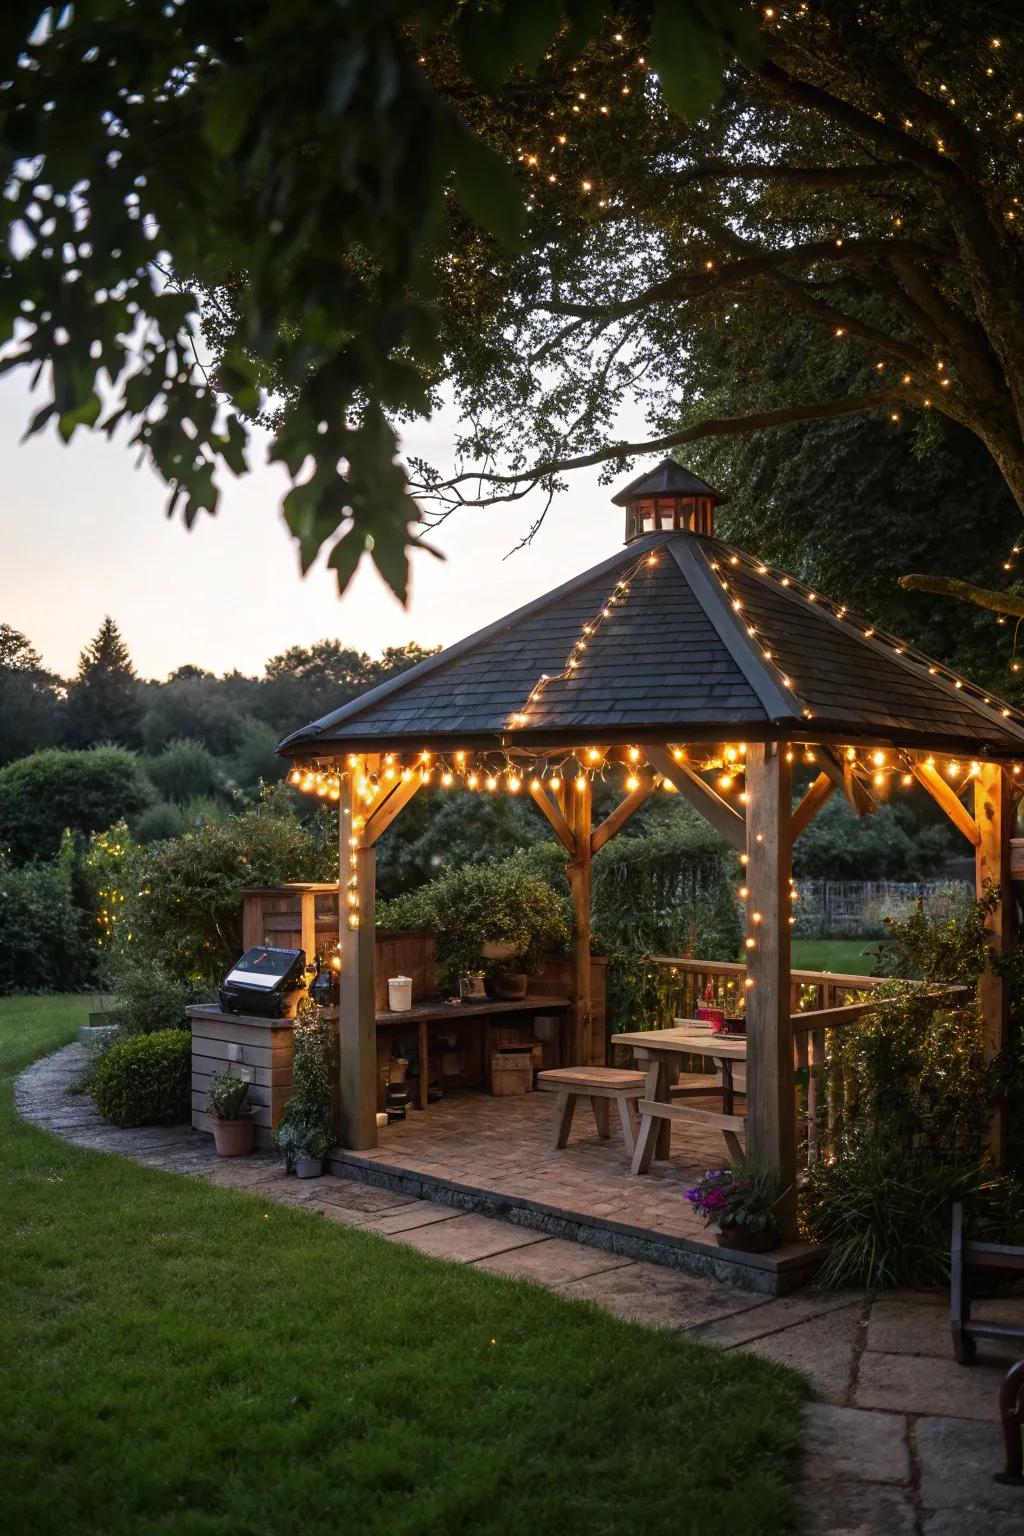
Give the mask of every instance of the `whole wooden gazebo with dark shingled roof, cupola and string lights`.
M 281 743 L 293 782 L 341 802 L 342 1138 L 376 1144 L 375 843 L 416 791 L 528 794 L 565 846 L 583 1064 L 591 859 L 665 788 L 745 866 L 748 1155 L 792 1184 L 792 842 L 834 793 L 863 816 L 895 786 L 921 785 L 972 843 L 978 889 L 1001 888 L 990 920 L 1001 948 L 1024 717 L 718 541 L 723 498 L 671 459 L 614 499 L 625 548 Z M 794 808 L 794 765 L 804 762 L 815 776 Z M 597 777 L 623 793 L 594 826 Z M 1006 998 L 993 974 L 983 1006 L 996 1054 Z

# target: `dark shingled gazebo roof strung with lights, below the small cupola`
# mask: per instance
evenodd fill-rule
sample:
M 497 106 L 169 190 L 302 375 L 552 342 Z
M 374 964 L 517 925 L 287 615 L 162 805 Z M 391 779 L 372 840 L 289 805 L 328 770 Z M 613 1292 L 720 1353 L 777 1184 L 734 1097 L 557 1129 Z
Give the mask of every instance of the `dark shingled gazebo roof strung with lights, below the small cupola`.
M 1019 711 L 801 582 L 682 531 L 634 539 L 279 751 L 540 754 L 729 737 L 1024 756 Z

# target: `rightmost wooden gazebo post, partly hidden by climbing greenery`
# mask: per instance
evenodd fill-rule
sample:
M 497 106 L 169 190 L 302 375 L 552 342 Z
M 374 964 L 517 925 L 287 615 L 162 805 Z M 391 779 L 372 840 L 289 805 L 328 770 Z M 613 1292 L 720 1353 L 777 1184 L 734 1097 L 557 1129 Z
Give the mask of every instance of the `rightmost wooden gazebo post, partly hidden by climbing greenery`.
M 1010 885 L 1010 837 L 1013 834 L 1013 799 L 1006 770 L 999 763 L 984 763 L 975 779 L 975 825 L 979 842 L 975 848 L 975 889 L 984 895 L 987 882 L 999 888 L 999 902 L 986 919 L 990 948 L 1001 954 L 1013 943 L 1016 919 L 1013 886 Z M 1003 1051 L 1007 1035 L 1009 995 L 1003 977 L 986 969 L 978 983 L 986 1061 Z M 998 1104 L 989 1123 L 989 1150 L 998 1167 L 1006 1161 L 1006 1107 Z

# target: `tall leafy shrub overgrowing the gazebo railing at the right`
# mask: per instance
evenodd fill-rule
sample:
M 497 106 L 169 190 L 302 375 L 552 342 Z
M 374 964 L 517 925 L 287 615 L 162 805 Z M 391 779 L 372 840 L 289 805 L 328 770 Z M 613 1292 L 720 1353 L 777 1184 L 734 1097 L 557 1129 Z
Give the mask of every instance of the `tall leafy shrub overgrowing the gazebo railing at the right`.
M 984 917 L 992 900 L 989 892 L 955 920 L 918 911 L 890 923 L 894 969 L 918 969 L 927 982 L 973 983 L 987 963 Z M 831 1244 L 823 1284 L 943 1284 L 955 1200 L 970 1200 L 975 1221 L 984 1204 L 990 1236 L 1012 1241 L 1019 1229 L 1021 1189 L 1013 1177 L 992 1180 L 984 1149 L 995 1097 L 1007 1095 L 1013 1127 L 1024 1087 L 1019 946 L 1001 968 L 1012 982 L 1012 1037 L 995 1063 L 984 1060 L 973 1000 L 935 1006 L 898 982 L 878 988 L 878 1011 L 834 1035 L 831 1155 L 811 1170 L 801 1201 L 808 1236 Z M 1019 1155 L 1019 1146 L 1012 1152 Z

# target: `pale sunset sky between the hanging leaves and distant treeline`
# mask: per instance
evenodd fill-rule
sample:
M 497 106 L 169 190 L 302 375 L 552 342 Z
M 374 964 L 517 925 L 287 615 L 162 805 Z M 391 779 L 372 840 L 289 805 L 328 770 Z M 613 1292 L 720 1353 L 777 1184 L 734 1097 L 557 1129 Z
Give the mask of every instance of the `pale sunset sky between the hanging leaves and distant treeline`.
M 223 481 L 216 518 L 192 533 L 164 518 L 166 487 L 135 453 L 97 433 L 64 447 L 54 427 L 20 444 L 40 399 L 28 376 L 0 381 L 3 564 L 0 622 L 23 630 L 54 671 L 112 614 L 141 676 L 184 662 L 258 673 L 269 656 L 324 636 L 370 653 L 419 641 L 448 644 L 596 564 L 622 542 L 622 511 L 597 472 L 580 472 L 557 498 L 533 547 L 504 561 L 539 505 L 464 511 L 433 536 L 447 559 L 415 556 L 402 608 L 368 562 L 344 598 L 315 567 L 302 579 L 279 516 L 284 472 L 263 465 Z M 639 425 L 639 424 L 637 424 Z M 451 421 L 424 424 L 410 452 L 448 462 Z M 636 473 L 636 472 L 634 472 Z

